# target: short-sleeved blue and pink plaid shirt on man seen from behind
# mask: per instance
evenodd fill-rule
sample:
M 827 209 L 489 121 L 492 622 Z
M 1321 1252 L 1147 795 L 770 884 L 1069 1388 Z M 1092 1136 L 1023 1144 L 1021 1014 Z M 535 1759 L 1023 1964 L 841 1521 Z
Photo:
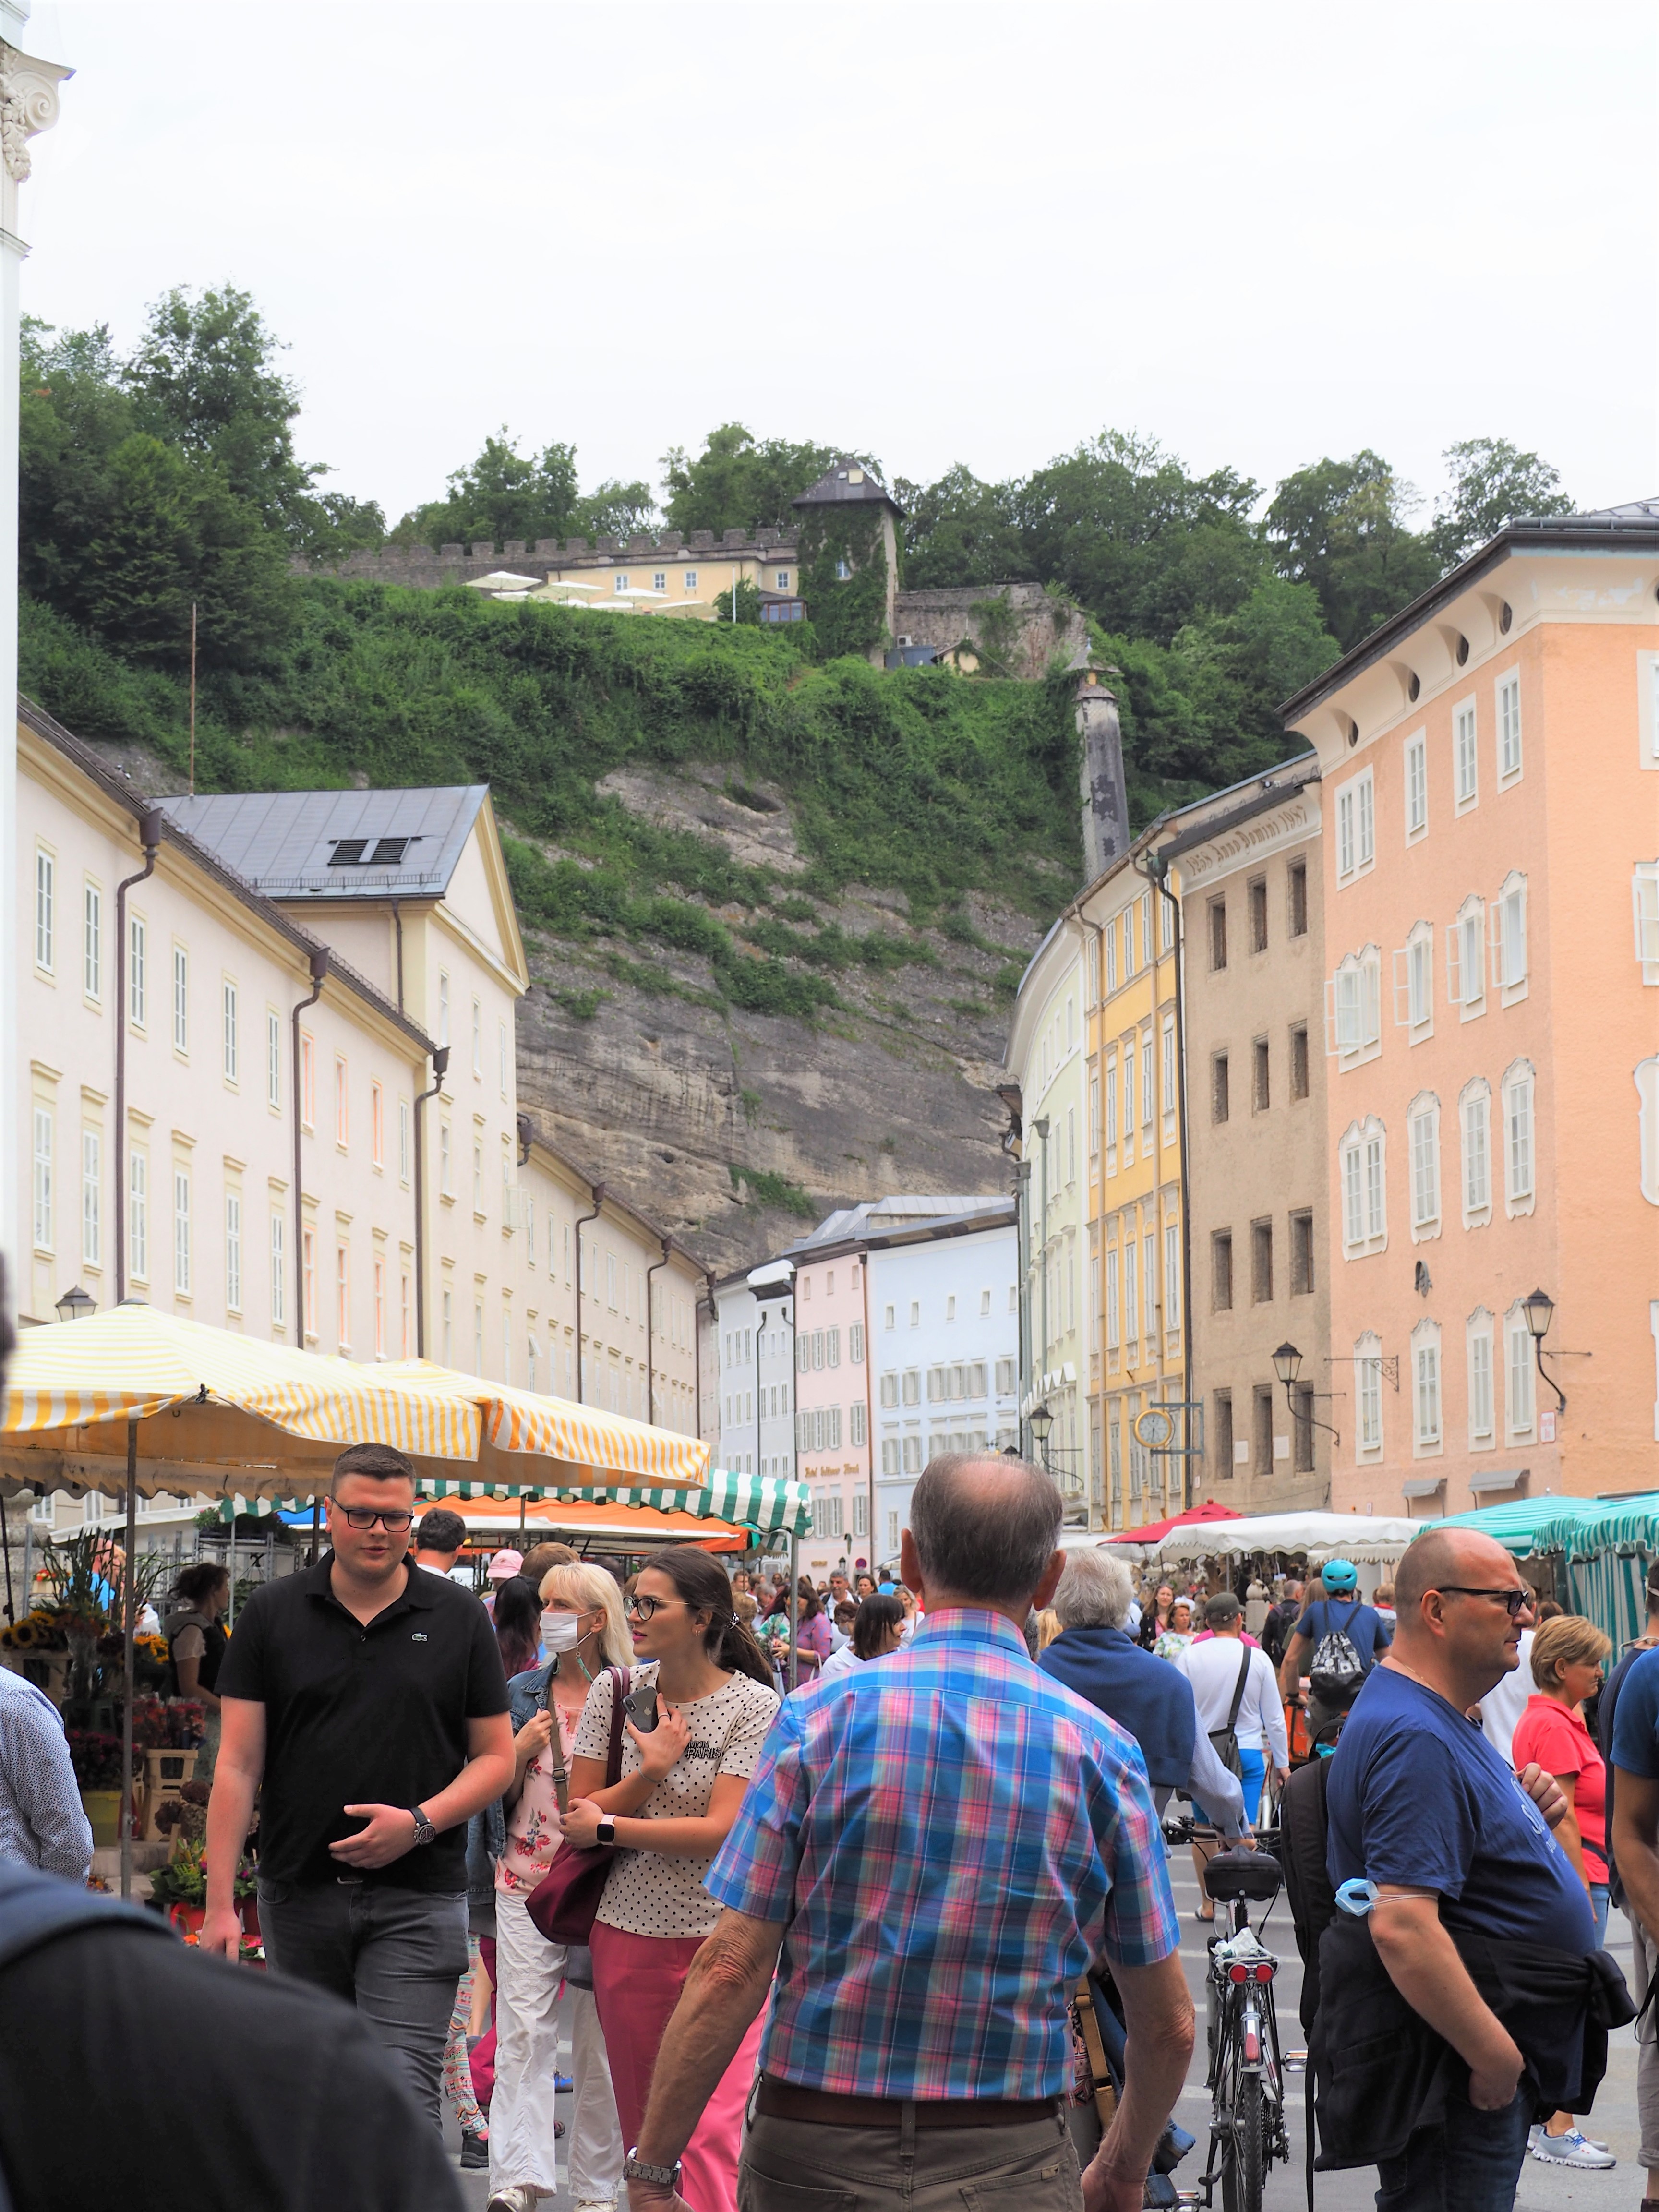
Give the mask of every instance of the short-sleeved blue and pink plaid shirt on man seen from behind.
M 1179 1944 L 1139 1747 L 1011 1621 L 929 1613 L 909 1650 L 787 1697 L 719 1858 L 787 1922 L 761 2064 L 858 2097 L 1057 2097 L 1099 1947 Z

